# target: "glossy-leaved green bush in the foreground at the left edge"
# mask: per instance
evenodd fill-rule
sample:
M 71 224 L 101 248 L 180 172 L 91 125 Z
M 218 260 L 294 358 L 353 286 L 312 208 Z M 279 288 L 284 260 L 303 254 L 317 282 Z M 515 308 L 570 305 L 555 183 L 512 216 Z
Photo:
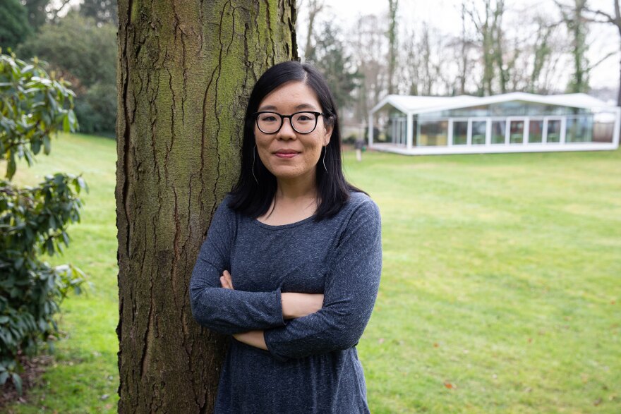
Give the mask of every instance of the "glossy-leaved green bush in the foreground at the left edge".
M 20 61 L 0 54 L 0 154 L 7 180 L 0 180 L 0 385 L 12 379 L 21 391 L 18 353 L 32 356 L 40 340 L 57 333 L 53 316 L 73 288 L 79 293 L 84 275 L 71 265 L 52 267 L 40 259 L 68 245 L 66 227 L 80 220 L 80 176 L 56 173 L 36 187 L 18 188 L 9 181 L 16 158 L 32 164 L 50 135 L 73 131 L 73 92 L 50 78 L 36 60 Z

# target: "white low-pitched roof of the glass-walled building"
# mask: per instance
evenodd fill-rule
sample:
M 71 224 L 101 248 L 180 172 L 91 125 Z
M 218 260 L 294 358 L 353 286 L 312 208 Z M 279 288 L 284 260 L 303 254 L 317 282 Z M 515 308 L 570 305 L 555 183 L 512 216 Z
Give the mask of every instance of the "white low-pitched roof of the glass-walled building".
M 490 97 L 473 97 L 459 95 L 457 97 L 421 97 L 407 95 L 388 95 L 371 109 L 371 113 L 378 111 L 386 104 L 390 104 L 404 113 L 422 114 L 424 112 L 446 111 L 448 109 L 466 108 L 469 106 L 497 104 L 499 102 L 526 101 L 538 104 L 571 106 L 572 108 L 614 108 L 600 99 L 584 93 L 565 95 L 534 95 L 526 92 L 511 92 Z

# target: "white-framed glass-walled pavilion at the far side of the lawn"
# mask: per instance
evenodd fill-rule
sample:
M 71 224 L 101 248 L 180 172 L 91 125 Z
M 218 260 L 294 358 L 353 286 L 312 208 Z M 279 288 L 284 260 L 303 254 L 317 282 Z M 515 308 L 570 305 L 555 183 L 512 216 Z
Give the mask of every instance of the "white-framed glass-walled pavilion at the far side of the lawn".
M 369 114 L 368 145 L 402 154 L 615 150 L 621 108 L 585 94 L 389 95 Z

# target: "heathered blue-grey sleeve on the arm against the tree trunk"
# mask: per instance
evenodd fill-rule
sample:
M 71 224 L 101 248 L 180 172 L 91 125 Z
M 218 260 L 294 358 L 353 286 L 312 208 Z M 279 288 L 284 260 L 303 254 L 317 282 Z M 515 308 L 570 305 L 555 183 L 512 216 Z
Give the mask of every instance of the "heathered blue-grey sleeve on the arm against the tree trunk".
M 225 199 L 217 208 L 194 265 L 190 281 L 192 315 L 199 324 L 221 334 L 283 326 L 280 288 L 246 292 L 220 284 L 222 272 L 230 268 L 236 232 L 235 214 L 226 204 Z

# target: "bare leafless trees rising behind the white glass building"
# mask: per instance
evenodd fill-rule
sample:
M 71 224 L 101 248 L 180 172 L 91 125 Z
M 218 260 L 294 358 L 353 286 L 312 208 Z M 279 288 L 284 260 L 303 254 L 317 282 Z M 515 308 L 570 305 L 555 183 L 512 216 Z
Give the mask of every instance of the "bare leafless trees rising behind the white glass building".
M 370 108 L 390 93 L 588 92 L 591 71 L 612 54 L 589 62 L 591 25 L 615 25 L 621 39 L 620 0 L 610 2 L 611 11 L 601 11 L 589 8 L 588 0 L 555 0 L 543 8 L 505 0 L 455 1 L 462 24 L 449 33 L 424 21 L 399 23 L 397 0 L 387 0 L 385 14 L 361 16 L 343 30 L 342 54 L 351 56 L 351 72 L 361 76 L 349 92 L 353 121 L 364 122 Z M 325 36 L 316 26 L 330 11 L 319 0 L 305 0 L 303 6 L 313 25 L 300 30 L 306 32 L 308 57 Z M 618 99 L 621 104 L 621 90 Z

